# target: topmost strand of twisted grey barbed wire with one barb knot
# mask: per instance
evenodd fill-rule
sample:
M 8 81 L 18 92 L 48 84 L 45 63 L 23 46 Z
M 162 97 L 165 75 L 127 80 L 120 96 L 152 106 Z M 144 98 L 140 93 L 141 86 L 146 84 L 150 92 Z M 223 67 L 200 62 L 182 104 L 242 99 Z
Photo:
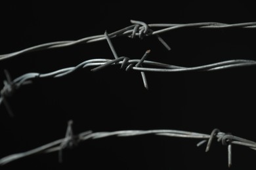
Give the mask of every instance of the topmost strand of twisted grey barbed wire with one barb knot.
M 110 33 L 110 37 L 119 37 L 119 36 L 127 36 L 131 38 L 139 37 L 142 39 L 143 37 L 148 37 L 152 35 L 156 35 L 158 40 L 167 48 L 167 50 L 171 50 L 168 44 L 163 41 L 160 37 L 161 33 L 165 33 L 167 31 L 172 31 L 174 29 L 181 29 L 186 27 L 196 27 L 198 29 L 226 29 L 226 28 L 246 28 L 246 29 L 254 29 L 256 28 L 256 22 L 245 22 L 239 24 L 224 24 L 219 22 L 200 22 L 200 23 L 191 23 L 191 24 L 146 24 L 144 22 L 131 20 L 131 24 L 123 29 L 119 29 L 114 33 Z M 158 29 L 154 31 L 153 29 Z M 78 39 L 76 41 L 56 41 L 56 42 L 48 42 L 45 44 L 39 44 L 36 46 L 32 46 L 30 48 L 26 48 L 24 50 L 20 50 L 18 52 L 12 52 L 10 54 L 2 54 L 0 55 L 0 61 L 7 58 L 12 58 L 14 56 L 20 56 L 22 54 L 26 54 L 28 52 L 35 52 L 38 50 L 48 50 L 51 48 L 64 48 L 66 46 L 74 46 L 76 44 L 89 43 L 89 42 L 97 42 L 103 41 L 106 39 L 105 35 L 94 35 L 91 37 L 85 37 L 83 39 Z

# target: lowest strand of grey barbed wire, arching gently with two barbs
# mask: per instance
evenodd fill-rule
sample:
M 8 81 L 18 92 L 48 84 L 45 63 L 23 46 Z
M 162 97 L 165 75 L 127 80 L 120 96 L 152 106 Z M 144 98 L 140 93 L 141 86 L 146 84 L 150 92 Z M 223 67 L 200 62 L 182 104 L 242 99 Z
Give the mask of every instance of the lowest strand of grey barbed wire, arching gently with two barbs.
M 124 130 L 124 131 L 102 131 L 102 132 L 93 132 L 85 131 L 74 135 L 72 130 L 73 121 L 68 121 L 68 128 L 66 130 L 66 136 L 63 139 L 58 139 L 38 148 L 28 150 L 26 152 L 21 152 L 18 154 L 11 154 L 0 159 L 0 165 L 5 165 L 11 163 L 12 161 L 19 160 L 28 156 L 35 154 L 46 154 L 51 152 L 58 152 L 58 161 L 62 162 L 62 150 L 65 148 L 73 148 L 77 144 L 87 141 L 102 139 L 106 137 L 134 137 L 139 135 L 160 135 L 166 137 L 179 137 L 179 138 L 189 138 L 189 139 L 203 139 L 200 141 L 197 146 L 202 146 L 202 144 L 207 142 L 205 152 L 209 151 L 213 139 L 217 139 L 218 142 L 221 142 L 224 146 L 228 146 L 228 167 L 232 165 L 232 146 L 234 144 L 240 146 L 247 146 L 253 150 L 256 150 L 256 143 L 249 141 L 247 139 L 236 137 L 230 133 L 221 132 L 219 129 L 213 129 L 210 135 L 204 133 L 196 133 L 192 131 L 182 131 L 182 130 L 173 130 L 173 129 L 152 129 L 152 130 Z

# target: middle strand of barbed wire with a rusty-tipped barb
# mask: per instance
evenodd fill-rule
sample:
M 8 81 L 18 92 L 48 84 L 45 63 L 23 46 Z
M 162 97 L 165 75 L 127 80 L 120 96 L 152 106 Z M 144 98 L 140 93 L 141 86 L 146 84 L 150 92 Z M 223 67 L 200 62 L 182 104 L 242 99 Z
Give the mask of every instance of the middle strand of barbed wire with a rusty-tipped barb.
M 91 69 L 91 71 L 100 71 L 101 69 L 110 67 L 110 65 L 121 65 L 120 68 L 125 71 L 129 71 L 131 69 L 133 69 L 134 71 L 140 71 L 144 87 L 148 89 L 148 81 L 146 80 L 145 72 L 171 73 L 186 71 L 217 71 L 223 69 L 230 69 L 234 67 L 248 67 L 256 65 L 255 60 L 231 59 L 227 61 L 220 61 L 218 63 L 211 63 L 195 67 L 182 67 L 179 65 L 170 65 L 167 63 L 146 60 L 146 58 L 150 54 L 150 50 L 146 50 L 145 54 L 140 59 L 130 59 L 125 56 L 119 57 L 108 33 L 105 32 L 104 36 L 106 37 L 108 45 L 110 46 L 110 49 L 112 50 L 112 54 L 115 59 L 88 59 L 86 61 L 83 61 L 82 63 L 79 63 L 75 67 L 59 69 L 51 73 L 26 73 L 24 75 L 19 76 L 18 78 L 15 78 L 13 81 L 11 79 L 11 75 L 9 74 L 9 72 L 5 70 L 7 80 L 4 80 L 4 86 L 0 92 L 0 105 L 1 103 L 4 103 L 10 116 L 14 116 L 12 109 L 7 101 L 7 97 L 11 97 L 14 94 L 14 92 L 18 90 L 21 86 L 31 84 L 33 82 L 33 79 L 35 78 L 58 78 L 70 75 L 78 69 L 85 69 L 87 67 L 94 67 L 93 69 Z

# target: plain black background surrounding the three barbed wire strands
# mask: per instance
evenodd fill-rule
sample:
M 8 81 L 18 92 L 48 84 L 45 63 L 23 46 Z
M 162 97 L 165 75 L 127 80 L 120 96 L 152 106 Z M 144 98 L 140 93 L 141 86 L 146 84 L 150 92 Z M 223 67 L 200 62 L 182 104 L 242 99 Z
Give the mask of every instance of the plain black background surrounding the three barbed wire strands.
M 52 41 L 76 40 L 109 33 L 130 20 L 153 23 L 254 22 L 251 3 L 0 3 L 0 54 Z M 119 37 L 113 44 L 119 56 L 173 65 L 196 66 L 228 59 L 256 59 L 255 29 L 183 28 L 163 33 L 167 51 L 155 37 Z M 24 73 L 48 73 L 93 58 L 114 58 L 106 41 L 44 50 L 0 61 L 12 78 Z M 23 86 L 9 103 L 15 117 L 0 107 L 0 157 L 24 152 L 64 137 L 68 120 L 74 132 L 125 129 L 180 129 L 224 132 L 256 141 L 255 67 L 215 72 L 146 73 L 149 90 L 139 72 L 108 67 L 92 73 L 79 70 L 62 78 L 35 80 Z M 3 85 L 2 85 L 3 86 Z M 2 87 L 1 86 L 1 87 Z M 228 169 L 227 148 L 213 143 L 196 147 L 197 139 L 146 135 L 85 141 L 73 150 L 30 156 L 8 168 L 37 169 Z M 255 168 L 255 152 L 234 146 L 232 169 Z

